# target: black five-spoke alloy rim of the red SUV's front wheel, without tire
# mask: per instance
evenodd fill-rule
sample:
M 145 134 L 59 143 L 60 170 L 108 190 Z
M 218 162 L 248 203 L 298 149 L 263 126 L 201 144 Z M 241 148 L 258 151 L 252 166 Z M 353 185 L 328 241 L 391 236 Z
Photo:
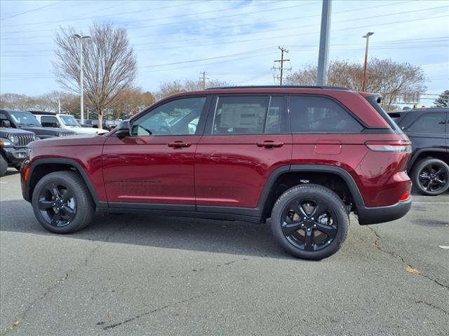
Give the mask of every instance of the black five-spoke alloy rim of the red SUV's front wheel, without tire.
M 39 193 L 39 211 L 50 225 L 61 227 L 69 225 L 76 215 L 76 198 L 63 183 L 46 184 Z

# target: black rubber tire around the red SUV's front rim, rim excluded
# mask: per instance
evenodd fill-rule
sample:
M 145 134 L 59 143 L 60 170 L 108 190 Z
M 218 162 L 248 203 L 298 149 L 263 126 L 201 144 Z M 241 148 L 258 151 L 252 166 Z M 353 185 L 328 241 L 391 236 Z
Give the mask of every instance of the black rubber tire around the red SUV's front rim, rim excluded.
M 76 214 L 73 221 L 60 228 L 48 223 L 46 219 L 43 218 L 41 211 L 39 210 L 39 194 L 41 193 L 42 188 L 51 182 L 60 183 L 70 188 L 74 193 L 76 200 Z M 32 195 L 32 207 L 37 221 L 39 221 L 43 228 L 60 234 L 73 233 L 81 230 L 91 222 L 93 214 L 95 213 L 95 206 L 86 185 L 76 173 L 72 172 L 55 172 L 44 176 L 36 184 L 36 188 L 34 188 Z

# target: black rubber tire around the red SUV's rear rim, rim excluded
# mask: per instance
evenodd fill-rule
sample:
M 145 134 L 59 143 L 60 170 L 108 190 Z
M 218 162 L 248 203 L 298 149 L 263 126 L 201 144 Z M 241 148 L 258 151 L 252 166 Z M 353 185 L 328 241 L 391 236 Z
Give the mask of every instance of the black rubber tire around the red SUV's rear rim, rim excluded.
M 326 202 L 334 211 L 337 220 L 337 235 L 333 241 L 319 251 L 304 251 L 290 244 L 283 235 L 281 228 L 281 216 L 283 209 L 293 200 L 300 197 L 319 198 Z M 279 197 L 272 211 L 272 232 L 279 245 L 291 255 L 302 259 L 320 260 L 337 252 L 347 237 L 349 216 L 344 203 L 332 190 L 318 185 L 304 185 L 290 188 Z

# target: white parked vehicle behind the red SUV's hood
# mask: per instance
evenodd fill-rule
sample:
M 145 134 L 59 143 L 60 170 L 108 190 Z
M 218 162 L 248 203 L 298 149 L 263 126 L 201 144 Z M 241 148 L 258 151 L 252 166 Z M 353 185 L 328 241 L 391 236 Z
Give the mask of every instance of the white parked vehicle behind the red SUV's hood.
M 71 130 L 76 134 L 101 134 L 107 133 L 105 130 L 93 130 L 88 127 L 81 127 L 74 116 L 62 113 L 52 113 L 46 111 L 29 111 L 33 113 L 37 120 L 43 127 L 62 128 L 64 130 Z

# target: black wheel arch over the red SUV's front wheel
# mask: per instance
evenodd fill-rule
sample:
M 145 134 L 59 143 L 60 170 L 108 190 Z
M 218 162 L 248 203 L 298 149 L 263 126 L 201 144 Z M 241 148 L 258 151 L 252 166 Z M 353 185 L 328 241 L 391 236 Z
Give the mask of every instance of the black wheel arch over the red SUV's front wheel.
M 91 197 L 97 207 L 101 206 L 102 202 L 98 199 L 98 195 L 93 188 L 93 184 L 88 177 L 85 169 L 73 159 L 38 159 L 29 166 L 30 179 L 27 181 L 26 194 L 29 197 L 28 200 L 32 200 L 32 195 L 36 184 L 42 179 L 43 176 L 53 172 L 76 172 L 81 176 L 86 184 Z

